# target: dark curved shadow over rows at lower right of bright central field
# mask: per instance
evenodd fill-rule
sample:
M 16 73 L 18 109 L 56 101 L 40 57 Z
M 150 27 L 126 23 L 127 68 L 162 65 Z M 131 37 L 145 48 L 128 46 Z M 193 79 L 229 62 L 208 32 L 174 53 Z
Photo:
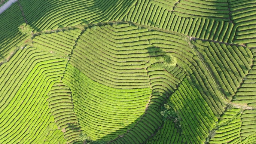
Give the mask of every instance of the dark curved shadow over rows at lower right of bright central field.
M 141 144 L 153 135 L 155 135 L 156 132 L 158 132 L 159 128 L 161 128 L 161 126 L 163 125 L 162 116 L 160 114 L 160 107 L 163 103 L 166 102 L 166 99 L 172 94 L 173 91 L 164 86 L 159 89 L 153 90 L 152 93 L 154 94 L 154 96 L 152 99 L 150 99 L 150 103 L 146 104 L 146 111 L 143 113 L 143 115 L 138 117 L 134 122 L 127 126 L 124 126 L 123 122 L 117 123 L 116 125 L 124 127 L 113 131 L 110 134 L 106 134 L 105 136 L 99 138 L 97 141 L 110 141 L 113 143 L 120 143 L 120 141 L 123 141 L 127 144 Z M 86 113 L 84 113 L 84 115 L 86 116 Z M 84 120 L 79 119 L 79 123 L 82 121 Z M 150 125 L 150 123 L 152 125 Z M 94 126 L 96 126 L 96 128 L 94 129 L 107 129 L 107 126 L 100 124 L 95 124 Z M 83 128 L 81 129 L 83 130 Z M 93 131 L 87 131 L 87 133 L 94 134 Z M 102 131 L 102 134 L 104 134 L 104 131 Z

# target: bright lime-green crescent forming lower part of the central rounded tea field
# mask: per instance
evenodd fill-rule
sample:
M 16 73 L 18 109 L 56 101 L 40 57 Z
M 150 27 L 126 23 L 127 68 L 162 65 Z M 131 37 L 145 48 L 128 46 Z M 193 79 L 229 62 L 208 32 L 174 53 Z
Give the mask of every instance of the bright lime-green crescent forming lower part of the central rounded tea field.
M 74 72 L 72 72 L 71 71 L 71 75 L 73 75 L 74 74 Z M 66 74 L 64 75 L 64 77 L 66 78 Z M 78 75 L 74 75 L 75 77 L 79 77 Z M 84 77 L 84 76 L 83 76 Z M 81 77 L 82 78 L 82 77 Z M 80 78 L 80 79 L 81 79 Z M 91 82 L 93 82 L 92 80 L 90 80 Z M 88 81 L 88 82 L 90 82 L 90 81 Z M 65 81 L 66 82 L 66 81 Z M 70 82 L 72 82 L 72 81 L 70 81 Z M 84 81 L 84 82 L 86 82 L 86 81 Z M 90 83 L 91 83 L 90 82 Z M 95 82 L 94 82 L 95 83 Z M 81 83 L 80 83 L 80 85 L 81 85 Z M 83 84 L 84 85 L 84 84 Z M 87 84 L 88 85 L 88 84 Z M 85 87 L 85 85 L 84 86 L 82 86 L 82 87 L 73 87 L 73 86 L 69 86 L 71 89 L 76 89 L 75 91 L 75 95 L 76 95 L 76 93 L 77 94 L 83 94 L 83 92 L 82 91 L 80 91 L 79 89 L 84 89 L 84 88 L 86 88 L 86 93 L 87 93 L 87 95 L 89 96 L 88 98 L 89 99 L 91 99 L 91 98 L 93 98 L 91 101 L 88 101 L 88 100 L 86 100 L 86 101 L 88 101 L 88 102 L 86 102 L 85 101 L 85 99 L 80 99 L 79 97 L 77 97 L 77 96 L 73 96 L 73 98 L 74 98 L 74 108 L 75 108 L 75 113 L 77 113 L 78 115 L 79 115 L 79 119 L 84 119 L 84 120 L 86 120 L 86 121 L 88 121 L 88 122 L 86 122 L 86 121 L 84 121 L 83 120 L 83 123 L 86 123 L 85 125 L 83 125 L 82 126 L 82 129 L 87 129 L 87 130 L 89 130 L 88 129 L 88 126 L 90 126 L 91 127 L 91 129 L 89 130 L 89 131 L 94 131 L 94 132 L 91 132 L 93 135 L 91 136 L 92 138 L 97 138 L 98 136 L 97 135 L 102 135 L 102 134 L 100 134 L 100 132 L 99 131 L 102 131 L 103 129 L 104 129 L 104 131 L 106 131 L 106 132 L 104 132 L 104 134 L 103 135 L 105 135 L 105 134 L 110 134 L 110 132 L 112 132 L 113 130 L 118 130 L 118 129 L 122 129 L 122 128 L 124 128 L 124 126 L 122 126 L 122 125 L 120 125 L 120 124 L 118 124 L 119 122 L 122 122 L 124 125 L 128 125 L 128 123 L 131 123 L 131 122 L 133 122 L 135 119 L 134 118 L 132 118 L 132 117 L 138 117 L 138 116 L 140 116 L 142 113 L 144 113 L 144 110 L 141 110 L 140 111 L 140 109 L 141 108 L 143 108 L 143 107 L 138 107 L 138 105 L 137 104 L 132 104 L 132 103 L 130 103 L 130 102 L 128 102 L 128 101 L 131 101 L 132 102 L 132 99 L 131 98 L 129 98 L 129 99 L 127 99 L 127 100 L 125 100 L 124 101 L 124 99 L 122 99 L 126 104 L 127 104 L 127 107 L 128 107 L 128 105 L 129 105 L 129 107 L 130 108 L 132 108 L 132 105 L 137 105 L 136 107 L 137 108 L 132 108 L 131 110 L 132 111 L 127 111 L 128 109 L 124 109 L 124 105 L 122 105 L 122 108 L 121 108 L 121 106 L 119 106 L 119 108 L 118 107 L 116 107 L 117 109 L 115 110 L 115 111 L 113 111 L 113 108 L 112 108 L 112 106 L 111 107 L 106 107 L 107 105 L 112 105 L 113 104 L 113 102 L 115 102 L 116 103 L 116 101 L 113 101 L 113 102 L 110 102 L 110 103 L 108 103 L 106 100 L 107 99 L 105 99 L 104 101 L 101 101 L 101 98 L 97 98 L 97 92 L 96 91 L 102 91 L 102 90 L 100 90 L 101 88 L 100 87 L 98 87 L 99 89 L 95 89 L 97 86 L 95 85 L 95 84 L 93 84 L 93 83 L 91 83 L 90 85 L 92 85 L 92 86 L 90 86 L 92 89 L 88 89 L 88 88 L 86 88 Z M 94 86 L 93 86 L 94 85 Z M 97 85 L 99 85 L 99 84 L 97 84 Z M 95 87 L 96 86 L 96 87 Z M 106 87 L 106 86 L 104 86 L 104 87 Z M 93 89 L 95 89 L 96 91 L 95 92 L 93 92 Z M 109 89 L 109 88 L 108 88 Z M 111 88 L 111 89 L 113 89 L 113 88 Z M 105 90 L 106 91 L 106 90 Z M 104 92 L 105 93 L 105 92 Z M 107 96 L 107 95 L 105 95 L 103 93 L 103 96 Z M 113 93 L 113 92 L 112 92 Z M 95 94 L 97 94 L 97 95 L 95 95 Z M 120 93 L 121 94 L 121 93 Z M 146 95 L 148 95 L 148 94 L 150 94 L 150 93 L 148 93 L 148 94 L 144 94 L 144 93 L 141 93 L 142 95 L 144 95 L 144 96 L 146 96 Z M 95 97 L 96 96 L 96 97 Z M 91 97 L 91 98 L 90 98 Z M 111 95 L 109 95 L 109 96 L 107 96 L 107 97 L 109 97 L 109 98 L 111 98 L 112 96 Z M 107 98 L 106 97 L 106 98 Z M 149 97 L 149 96 L 146 96 L 146 97 Z M 113 98 L 112 98 L 113 99 Z M 116 100 L 118 100 L 118 99 L 116 99 Z M 96 103 L 94 102 L 94 101 L 97 101 Z M 121 99 L 119 99 L 119 101 L 121 101 Z M 146 99 L 144 100 L 144 101 L 147 101 Z M 78 102 L 78 103 L 77 103 Z M 84 105 L 83 104 L 83 102 L 85 102 L 84 104 L 90 104 L 90 105 L 88 105 L 88 106 L 86 106 L 86 105 Z M 107 102 L 107 103 L 106 103 Z M 98 104 L 101 104 L 101 105 L 98 105 Z M 81 105 L 81 104 L 83 104 L 83 106 Z M 132 105 L 131 105 L 132 104 Z M 138 104 L 140 104 L 140 102 L 138 101 Z M 140 105 L 145 105 L 146 103 L 145 102 L 143 102 L 143 103 L 141 103 Z M 95 105 L 93 108 L 92 108 L 92 105 Z M 104 106 L 104 105 L 106 105 L 106 106 Z M 81 107 L 82 106 L 82 107 Z M 104 108 L 101 108 L 101 107 L 104 107 Z M 86 111 L 86 116 L 85 115 L 81 115 L 80 114 L 80 112 L 79 111 L 77 111 L 76 109 L 77 108 L 83 108 L 83 111 Z M 88 108 L 87 108 L 88 107 Z M 91 107 L 91 108 L 89 108 L 89 107 Z M 122 109 L 124 110 L 124 111 L 122 111 Z M 137 110 L 136 110 L 137 109 Z M 143 108 L 144 109 L 144 108 Z M 101 114 L 101 116 L 96 116 L 95 115 L 95 112 L 90 112 L 90 111 L 97 111 L 96 113 L 98 113 L 98 114 Z M 120 111 L 121 110 L 121 111 Z M 137 111 L 137 112 L 136 112 Z M 116 113 L 116 112 L 118 112 L 118 113 Z M 123 113 L 123 114 L 122 114 Z M 126 114 L 125 114 L 126 113 Z M 129 113 L 129 117 L 127 117 L 127 116 L 125 116 L 125 115 L 127 115 L 127 113 Z M 114 115 L 116 115 L 116 114 L 118 114 L 118 116 L 117 117 L 115 117 Z M 82 117 L 83 118 L 82 118 Z M 114 116 L 114 117 L 113 117 Z M 86 118 L 87 117 L 87 118 Z M 120 119 L 121 117 L 124 117 L 124 119 L 123 120 L 125 120 L 125 121 L 123 121 L 122 119 Z M 88 119 L 89 118 L 89 119 Z M 105 119 L 105 120 L 104 120 Z M 127 120 L 127 119 L 131 119 L 131 120 Z M 106 121 L 106 123 L 104 122 L 104 121 Z M 96 123 L 95 123 L 96 122 Z M 80 123 L 80 122 L 79 122 Z M 101 129 L 98 129 L 98 128 L 96 128 L 95 126 L 97 125 L 97 123 L 102 123 L 103 125 L 105 125 L 105 126 L 107 126 L 106 128 L 104 128 L 104 127 L 102 127 Z M 113 123 L 113 124 L 111 124 L 111 123 Z M 88 125 L 88 126 L 86 126 L 86 125 Z M 93 126 L 93 125 L 95 125 L 95 126 Z M 84 127 L 85 126 L 85 127 Z M 93 128 L 93 129 L 92 129 Z M 116 129 L 116 128 L 118 128 L 118 129 Z M 112 130 L 113 129 L 113 130 Z M 98 131 L 98 132 L 97 132 Z M 109 132 L 108 132 L 109 131 Z M 113 131 L 114 132 L 114 131 Z M 116 137 L 115 135 L 116 134 L 118 134 L 119 135 L 119 133 L 122 133 L 122 131 L 121 130 L 119 130 L 119 131 L 117 131 L 116 133 L 113 133 L 112 134 L 112 136 L 111 135 L 108 135 L 108 137 Z

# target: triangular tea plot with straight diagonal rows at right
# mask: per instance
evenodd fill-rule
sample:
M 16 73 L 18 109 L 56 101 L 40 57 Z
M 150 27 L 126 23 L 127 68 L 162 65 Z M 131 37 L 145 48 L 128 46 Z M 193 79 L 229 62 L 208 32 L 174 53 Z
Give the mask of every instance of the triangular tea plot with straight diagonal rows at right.
M 226 96 L 233 96 L 250 70 L 253 55 L 248 48 L 213 42 L 193 42 Z M 231 100 L 231 97 L 229 97 Z

